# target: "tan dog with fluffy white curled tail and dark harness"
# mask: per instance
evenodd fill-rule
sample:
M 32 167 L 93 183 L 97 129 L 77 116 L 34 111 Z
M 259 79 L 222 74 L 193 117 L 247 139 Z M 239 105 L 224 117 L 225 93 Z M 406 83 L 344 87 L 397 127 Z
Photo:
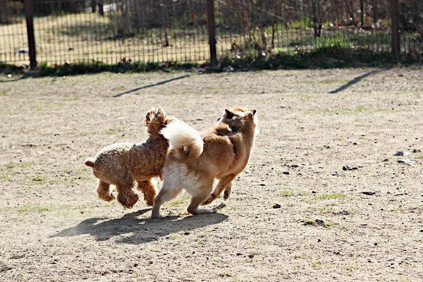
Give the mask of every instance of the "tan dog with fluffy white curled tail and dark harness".
M 183 188 L 192 196 L 190 214 L 213 213 L 213 209 L 198 207 L 204 200 L 212 202 L 218 197 L 247 166 L 257 122 L 256 110 L 234 108 L 226 109 L 219 123 L 203 136 L 183 121 L 169 123 L 161 130 L 170 147 L 163 168 L 163 188 L 154 200 L 152 218 L 161 217 L 161 204 L 175 198 Z M 215 178 L 220 180 L 210 194 Z

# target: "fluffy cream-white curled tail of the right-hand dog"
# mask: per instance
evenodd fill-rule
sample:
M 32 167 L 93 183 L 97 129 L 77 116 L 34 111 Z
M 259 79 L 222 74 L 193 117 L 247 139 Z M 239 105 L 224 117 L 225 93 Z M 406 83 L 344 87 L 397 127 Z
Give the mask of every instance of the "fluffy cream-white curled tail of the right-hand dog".
M 178 159 L 197 159 L 202 154 L 204 142 L 200 133 L 183 121 L 173 121 L 161 130 L 169 145 L 177 149 Z

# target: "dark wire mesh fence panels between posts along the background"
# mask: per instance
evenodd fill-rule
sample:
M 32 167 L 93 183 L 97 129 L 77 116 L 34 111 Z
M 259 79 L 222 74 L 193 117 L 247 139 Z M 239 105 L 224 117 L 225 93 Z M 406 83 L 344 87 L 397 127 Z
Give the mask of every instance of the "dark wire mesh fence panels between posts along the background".
M 207 61 L 205 0 L 32 0 L 37 61 Z M 391 51 L 388 0 L 214 0 L 218 57 Z M 0 61 L 28 63 L 21 1 L 0 0 Z M 422 56 L 423 0 L 399 0 L 403 54 Z

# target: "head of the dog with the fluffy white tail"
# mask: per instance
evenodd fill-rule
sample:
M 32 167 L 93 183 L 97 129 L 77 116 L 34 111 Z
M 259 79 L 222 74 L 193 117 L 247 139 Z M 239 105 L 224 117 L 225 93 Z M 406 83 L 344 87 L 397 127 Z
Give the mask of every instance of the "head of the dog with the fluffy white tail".
M 242 108 L 225 109 L 219 118 L 219 123 L 226 123 L 234 133 L 241 132 L 245 128 L 255 129 L 258 125 L 257 111 Z

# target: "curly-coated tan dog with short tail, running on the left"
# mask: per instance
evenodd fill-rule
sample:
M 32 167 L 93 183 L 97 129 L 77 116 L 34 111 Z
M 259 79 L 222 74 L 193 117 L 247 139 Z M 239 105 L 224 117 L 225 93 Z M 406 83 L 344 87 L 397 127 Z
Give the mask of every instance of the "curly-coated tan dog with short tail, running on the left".
M 153 205 L 156 188 L 152 178 L 161 178 L 168 150 L 168 140 L 160 130 L 171 121 L 176 121 L 176 118 L 168 116 L 161 108 L 151 109 L 145 116 L 149 134 L 147 141 L 141 144 L 116 143 L 101 149 L 94 159 L 85 161 L 94 176 L 99 178 L 97 194 L 100 199 L 107 202 L 114 200 L 110 185 L 115 185 L 118 202 L 129 209 L 138 201 L 138 195 L 133 191 L 136 181 L 137 190 L 144 194 L 147 205 Z

